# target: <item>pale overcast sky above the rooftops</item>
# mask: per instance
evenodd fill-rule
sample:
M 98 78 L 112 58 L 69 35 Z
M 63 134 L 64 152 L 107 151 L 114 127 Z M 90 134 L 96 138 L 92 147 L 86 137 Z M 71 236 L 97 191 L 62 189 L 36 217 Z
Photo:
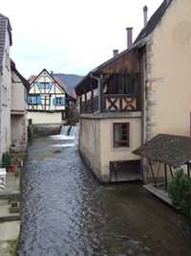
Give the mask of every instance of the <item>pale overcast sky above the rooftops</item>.
M 86 75 L 126 49 L 163 0 L 4 0 L 0 12 L 12 28 L 11 58 L 26 79 L 49 72 Z

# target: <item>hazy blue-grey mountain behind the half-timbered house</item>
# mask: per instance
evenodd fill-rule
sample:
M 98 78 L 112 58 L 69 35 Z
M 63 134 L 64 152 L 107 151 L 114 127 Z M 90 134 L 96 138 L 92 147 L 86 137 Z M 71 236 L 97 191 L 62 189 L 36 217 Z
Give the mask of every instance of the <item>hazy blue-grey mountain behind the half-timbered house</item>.
M 74 86 L 84 78 L 84 76 L 61 73 L 53 73 L 53 77 L 57 77 L 60 81 L 66 84 L 69 95 L 72 95 Z

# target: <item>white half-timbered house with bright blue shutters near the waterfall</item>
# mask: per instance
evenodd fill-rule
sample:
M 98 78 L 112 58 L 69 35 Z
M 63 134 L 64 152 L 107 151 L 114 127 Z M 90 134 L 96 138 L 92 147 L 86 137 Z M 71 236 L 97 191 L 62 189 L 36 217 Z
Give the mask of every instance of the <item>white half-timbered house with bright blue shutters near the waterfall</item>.
M 67 96 L 66 87 L 43 69 L 31 83 L 28 119 L 32 119 L 32 124 L 60 124 L 66 115 Z

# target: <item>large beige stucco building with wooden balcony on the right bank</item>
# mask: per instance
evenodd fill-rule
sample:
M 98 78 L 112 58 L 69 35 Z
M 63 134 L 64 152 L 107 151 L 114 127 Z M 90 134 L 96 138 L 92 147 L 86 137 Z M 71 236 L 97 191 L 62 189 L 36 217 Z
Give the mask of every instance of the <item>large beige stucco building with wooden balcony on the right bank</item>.
M 132 151 L 159 133 L 190 136 L 191 1 L 164 0 L 148 22 L 143 10 L 144 27 L 135 42 L 75 86 L 79 150 L 102 181 L 130 180 L 134 169 L 133 178 L 150 182 L 147 160 Z M 132 28 L 127 32 L 132 38 Z

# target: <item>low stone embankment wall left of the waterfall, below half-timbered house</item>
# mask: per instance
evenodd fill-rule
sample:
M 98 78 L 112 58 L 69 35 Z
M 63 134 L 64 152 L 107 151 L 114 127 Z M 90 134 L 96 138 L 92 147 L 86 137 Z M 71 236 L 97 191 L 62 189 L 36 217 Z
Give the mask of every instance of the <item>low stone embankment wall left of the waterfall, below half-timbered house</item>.
M 28 126 L 28 140 L 38 137 L 46 137 L 60 133 L 60 125 L 31 125 Z

